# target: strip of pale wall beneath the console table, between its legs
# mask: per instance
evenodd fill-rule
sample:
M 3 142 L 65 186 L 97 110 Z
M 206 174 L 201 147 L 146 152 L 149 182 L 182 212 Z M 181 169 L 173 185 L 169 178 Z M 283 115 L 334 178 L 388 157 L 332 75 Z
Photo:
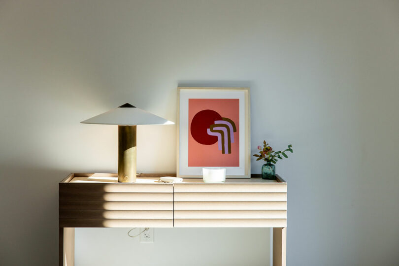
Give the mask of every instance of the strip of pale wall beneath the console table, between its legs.
M 269 265 L 268 228 L 155 228 L 153 243 L 128 231 L 77 228 L 75 266 Z

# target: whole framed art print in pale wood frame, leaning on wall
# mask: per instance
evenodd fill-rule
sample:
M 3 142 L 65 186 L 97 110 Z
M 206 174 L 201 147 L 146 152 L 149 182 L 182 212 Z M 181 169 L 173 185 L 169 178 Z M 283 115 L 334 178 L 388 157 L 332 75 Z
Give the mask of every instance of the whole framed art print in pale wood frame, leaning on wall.
M 177 176 L 202 177 L 202 167 L 214 166 L 249 178 L 249 88 L 179 87 L 177 94 Z

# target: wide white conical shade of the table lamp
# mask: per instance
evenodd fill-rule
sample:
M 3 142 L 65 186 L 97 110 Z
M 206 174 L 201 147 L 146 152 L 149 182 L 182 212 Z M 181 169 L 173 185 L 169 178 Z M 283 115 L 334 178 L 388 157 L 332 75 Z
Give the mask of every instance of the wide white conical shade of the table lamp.
M 118 108 L 96 115 L 80 123 L 102 125 L 173 125 L 172 121 L 125 103 Z

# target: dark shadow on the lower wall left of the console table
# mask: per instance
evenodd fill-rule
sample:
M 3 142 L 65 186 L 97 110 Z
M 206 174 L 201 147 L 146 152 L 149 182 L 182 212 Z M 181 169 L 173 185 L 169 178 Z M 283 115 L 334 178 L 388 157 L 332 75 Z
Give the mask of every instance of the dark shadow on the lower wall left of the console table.
M 57 265 L 58 183 L 66 175 L 66 170 L 0 166 L 1 265 Z

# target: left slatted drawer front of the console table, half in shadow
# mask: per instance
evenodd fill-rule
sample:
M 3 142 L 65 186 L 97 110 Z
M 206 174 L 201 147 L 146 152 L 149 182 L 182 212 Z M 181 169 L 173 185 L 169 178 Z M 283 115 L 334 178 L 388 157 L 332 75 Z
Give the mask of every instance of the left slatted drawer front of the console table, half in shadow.
M 60 184 L 60 227 L 173 227 L 172 184 Z

